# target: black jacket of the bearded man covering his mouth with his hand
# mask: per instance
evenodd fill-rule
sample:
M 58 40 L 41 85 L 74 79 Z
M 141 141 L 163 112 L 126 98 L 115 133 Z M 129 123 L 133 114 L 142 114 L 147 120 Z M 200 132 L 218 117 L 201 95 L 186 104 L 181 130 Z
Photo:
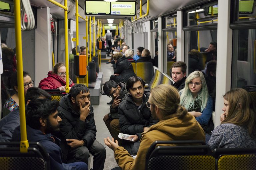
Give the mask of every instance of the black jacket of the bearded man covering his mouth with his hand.
M 93 116 L 93 107 L 85 121 L 81 121 L 80 112 L 76 112 L 72 105 L 70 94 L 61 98 L 58 107 L 59 116 L 62 119 L 60 131 L 65 139 L 84 140 L 84 146 L 91 146 L 96 136 L 96 126 Z

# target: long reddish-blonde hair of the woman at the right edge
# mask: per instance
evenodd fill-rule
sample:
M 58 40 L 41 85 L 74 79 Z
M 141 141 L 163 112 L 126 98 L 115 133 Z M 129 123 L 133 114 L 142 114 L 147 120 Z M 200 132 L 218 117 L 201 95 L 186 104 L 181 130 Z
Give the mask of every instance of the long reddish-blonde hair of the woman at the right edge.
M 256 111 L 248 92 L 235 88 L 228 91 L 223 98 L 228 101 L 228 115 L 222 124 L 232 123 L 248 128 L 249 135 L 256 137 Z

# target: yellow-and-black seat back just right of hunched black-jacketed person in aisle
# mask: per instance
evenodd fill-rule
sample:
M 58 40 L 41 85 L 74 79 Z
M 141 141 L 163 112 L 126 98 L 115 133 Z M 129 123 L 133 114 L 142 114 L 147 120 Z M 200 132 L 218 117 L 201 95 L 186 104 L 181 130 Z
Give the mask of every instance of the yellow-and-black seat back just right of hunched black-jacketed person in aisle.
M 149 84 L 153 77 L 153 64 L 151 62 L 137 62 L 136 75 Z

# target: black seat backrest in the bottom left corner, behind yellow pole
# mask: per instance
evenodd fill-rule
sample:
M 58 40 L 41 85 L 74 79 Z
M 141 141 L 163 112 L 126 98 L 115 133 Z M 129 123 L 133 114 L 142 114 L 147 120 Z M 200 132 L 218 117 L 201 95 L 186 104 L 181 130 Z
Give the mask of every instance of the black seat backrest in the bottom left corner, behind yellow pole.
M 1 142 L 0 145 L 0 164 L 1 170 L 24 170 L 50 169 L 49 155 L 39 142 L 29 142 L 27 153 L 20 152 L 20 142 Z

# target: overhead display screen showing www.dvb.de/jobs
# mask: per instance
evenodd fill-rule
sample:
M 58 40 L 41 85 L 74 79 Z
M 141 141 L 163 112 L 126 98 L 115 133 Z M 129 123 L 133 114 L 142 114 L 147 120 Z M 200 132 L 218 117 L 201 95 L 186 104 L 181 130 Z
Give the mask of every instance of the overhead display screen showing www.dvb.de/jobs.
M 85 0 L 84 5 L 85 15 L 89 16 L 135 16 L 137 1 Z

